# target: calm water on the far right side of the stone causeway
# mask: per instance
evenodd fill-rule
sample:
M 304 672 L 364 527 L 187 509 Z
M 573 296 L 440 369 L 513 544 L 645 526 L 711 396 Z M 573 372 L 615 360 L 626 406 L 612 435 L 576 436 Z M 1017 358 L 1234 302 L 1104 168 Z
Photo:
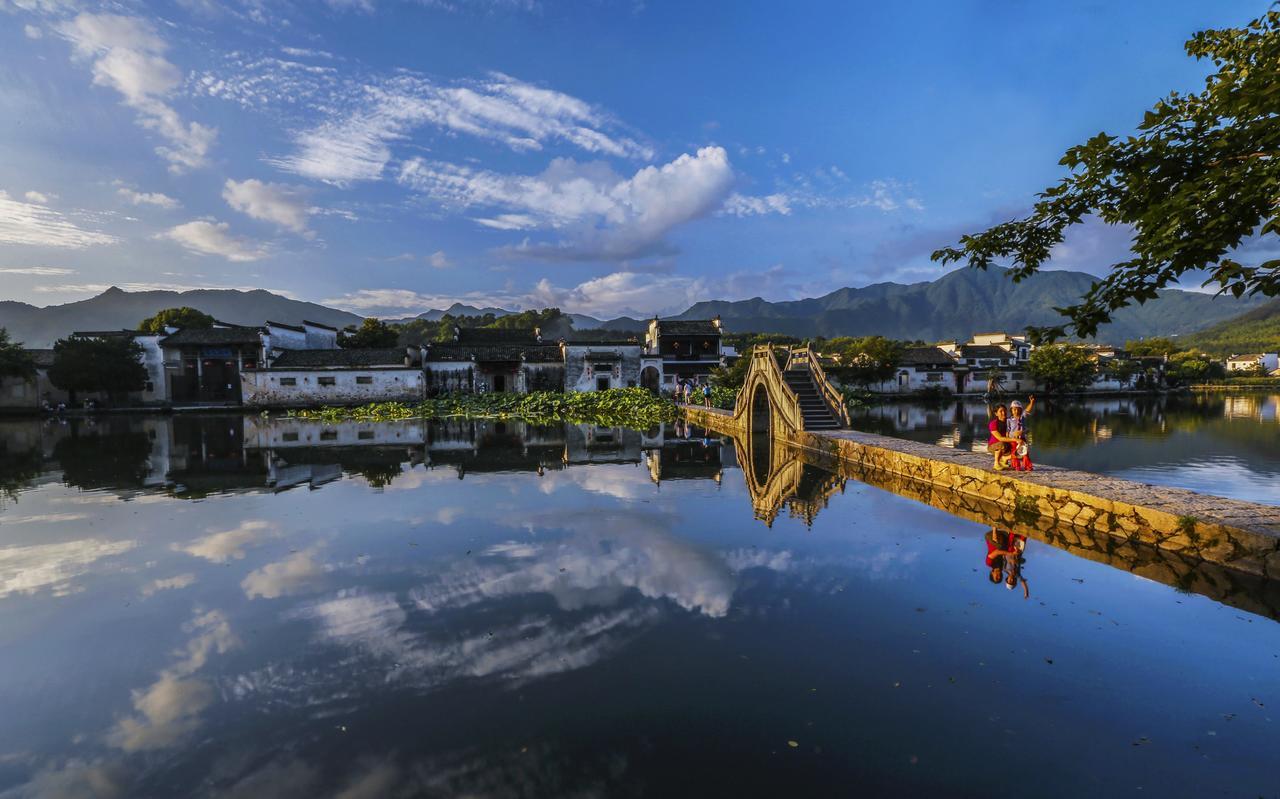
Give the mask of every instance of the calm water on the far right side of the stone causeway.
M 1041 402 L 1032 460 L 1280 504 L 1277 407 L 1280 396 L 1263 393 Z M 978 401 L 900 402 L 863 410 L 854 426 L 984 452 L 988 421 Z

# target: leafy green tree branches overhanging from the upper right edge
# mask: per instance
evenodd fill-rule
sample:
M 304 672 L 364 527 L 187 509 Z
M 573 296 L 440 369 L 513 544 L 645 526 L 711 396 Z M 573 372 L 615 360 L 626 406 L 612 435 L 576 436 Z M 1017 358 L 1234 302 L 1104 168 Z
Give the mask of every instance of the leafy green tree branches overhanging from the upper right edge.
M 1070 174 L 1044 190 L 1027 218 L 965 236 L 933 260 L 975 269 L 1011 261 L 1016 282 L 1089 216 L 1132 228 L 1133 257 L 1114 264 L 1076 305 L 1055 309 L 1066 321 L 1033 329 L 1037 342 L 1069 330 L 1093 335 L 1119 309 L 1153 300 L 1199 269 L 1220 293 L 1280 295 L 1280 259 L 1245 265 L 1229 257 L 1254 233 L 1271 248 L 1280 234 L 1280 10 L 1243 28 L 1201 31 L 1187 54 L 1216 67 L 1203 91 L 1157 101 L 1134 136 L 1098 133 L 1071 147 L 1060 161 Z

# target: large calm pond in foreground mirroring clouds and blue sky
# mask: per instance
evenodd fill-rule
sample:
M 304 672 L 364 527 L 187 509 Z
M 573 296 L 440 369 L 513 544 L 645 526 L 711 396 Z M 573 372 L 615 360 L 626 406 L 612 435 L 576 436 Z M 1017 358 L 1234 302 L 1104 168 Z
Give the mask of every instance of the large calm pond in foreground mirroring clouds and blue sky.
M 1277 795 L 1275 586 L 682 433 L 0 423 L 0 796 Z

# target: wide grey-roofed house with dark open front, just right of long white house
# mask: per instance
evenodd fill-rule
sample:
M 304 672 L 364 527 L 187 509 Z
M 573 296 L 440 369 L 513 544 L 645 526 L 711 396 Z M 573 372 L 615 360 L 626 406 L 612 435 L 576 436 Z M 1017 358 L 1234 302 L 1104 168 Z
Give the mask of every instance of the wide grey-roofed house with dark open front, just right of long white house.
M 564 353 L 538 328 L 454 328 L 453 341 L 422 348 L 426 393 L 563 391 Z

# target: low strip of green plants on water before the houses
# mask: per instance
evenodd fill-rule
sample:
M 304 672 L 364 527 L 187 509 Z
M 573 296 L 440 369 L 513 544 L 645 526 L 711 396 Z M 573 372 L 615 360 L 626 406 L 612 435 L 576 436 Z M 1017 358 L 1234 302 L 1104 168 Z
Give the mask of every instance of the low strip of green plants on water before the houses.
M 416 405 L 374 402 L 356 407 L 291 411 L 289 416 L 319 421 L 384 421 L 393 419 L 518 419 L 531 424 L 596 424 L 648 428 L 672 421 L 676 406 L 643 388 L 603 392 L 531 394 L 448 394 Z

